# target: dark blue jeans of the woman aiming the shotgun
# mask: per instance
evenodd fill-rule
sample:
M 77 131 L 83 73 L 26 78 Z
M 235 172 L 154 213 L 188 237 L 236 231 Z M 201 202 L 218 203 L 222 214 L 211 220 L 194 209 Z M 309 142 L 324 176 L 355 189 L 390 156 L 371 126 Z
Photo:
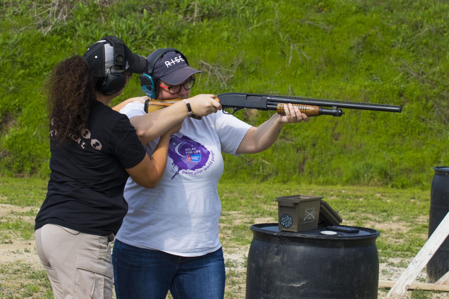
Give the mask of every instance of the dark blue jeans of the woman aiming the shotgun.
M 225 260 L 220 249 L 204 256 L 175 256 L 115 240 L 112 250 L 117 299 L 223 299 Z

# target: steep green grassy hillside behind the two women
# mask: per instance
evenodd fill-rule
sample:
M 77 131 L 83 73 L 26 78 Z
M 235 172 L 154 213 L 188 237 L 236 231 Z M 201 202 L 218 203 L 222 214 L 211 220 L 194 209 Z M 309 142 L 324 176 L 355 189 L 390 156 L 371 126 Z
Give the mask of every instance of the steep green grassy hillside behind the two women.
M 257 155 L 225 157 L 226 182 L 421 186 L 449 162 L 445 1 L 50 1 L 0 3 L 1 173 L 48 175 L 45 76 L 104 35 L 148 55 L 172 46 L 202 70 L 194 93 L 396 104 L 287 125 Z M 137 76 L 135 78 L 138 78 Z M 142 95 L 133 79 L 114 104 Z M 236 114 L 259 125 L 271 113 Z

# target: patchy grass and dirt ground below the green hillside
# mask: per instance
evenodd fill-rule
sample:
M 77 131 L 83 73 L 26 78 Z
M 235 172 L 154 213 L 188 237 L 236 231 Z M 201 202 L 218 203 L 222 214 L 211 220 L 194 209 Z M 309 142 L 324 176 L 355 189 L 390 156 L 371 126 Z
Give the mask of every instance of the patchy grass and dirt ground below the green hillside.
M 35 253 L 34 217 L 46 181 L 0 178 L 0 298 L 53 298 Z M 277 221 L 277 196 L 320 195 L 345 225 L 371 227 L 377 240 L 381 279 L 396 279 L 427 239 L 429 190 L 296 184 L 219 185 L 223 212 L 220 239 L 225 252 L 226 299 L 245 297 L 246 259 L 255 223 Z M 418 281 L 425 282 L 425 273 Z M 379 290 L 383 298 L 387 290 Z M 167 296 L 170 298 L 170 295 Z M 449 298 L 441 292 L 408 291 L 406 298 Z

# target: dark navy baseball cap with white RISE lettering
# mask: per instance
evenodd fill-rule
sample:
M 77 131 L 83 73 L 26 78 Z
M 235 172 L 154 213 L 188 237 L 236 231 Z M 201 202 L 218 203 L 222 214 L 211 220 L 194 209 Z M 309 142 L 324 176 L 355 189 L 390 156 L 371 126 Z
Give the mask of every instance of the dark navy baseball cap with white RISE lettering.
M 154 51 L 156 52 L 156 51 Z M 152 52 L 147 60 L 150 61 Z M 151 71 L 151 70 L 149 70 Z M 183 58 L 181 52 L 170 51 L 165 53 L 154 65 L 153 76 L 170 85 L 181 84 L 193 74 L 201 73 L 198 69 L 191 68 Z

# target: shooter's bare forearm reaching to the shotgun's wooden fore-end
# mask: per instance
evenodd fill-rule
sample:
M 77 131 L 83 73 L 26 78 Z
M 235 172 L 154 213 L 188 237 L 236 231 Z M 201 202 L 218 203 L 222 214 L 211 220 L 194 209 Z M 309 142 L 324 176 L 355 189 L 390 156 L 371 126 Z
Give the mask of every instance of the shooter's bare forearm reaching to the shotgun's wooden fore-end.
M 254 154 L 266 150 L 276 142 L 283 125 L 279 116 L 275 114 L 259 127 L 251 127 L 240 143 L 237 152 Z

